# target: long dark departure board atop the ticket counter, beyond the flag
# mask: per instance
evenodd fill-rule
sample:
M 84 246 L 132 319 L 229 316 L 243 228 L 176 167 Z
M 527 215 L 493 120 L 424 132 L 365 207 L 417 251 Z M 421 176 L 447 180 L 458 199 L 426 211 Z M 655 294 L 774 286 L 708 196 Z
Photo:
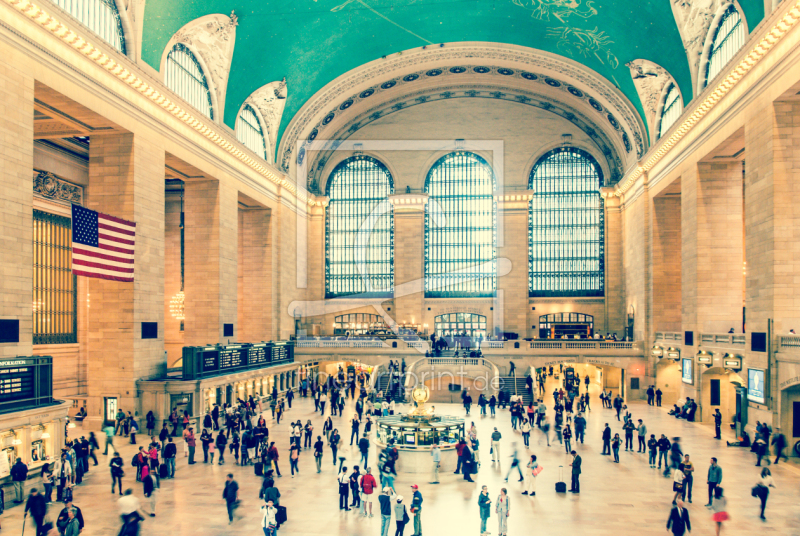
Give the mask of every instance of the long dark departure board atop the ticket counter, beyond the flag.
M 208 378 L 294 362 L 289 341 L 183 348 L 183 379 Z

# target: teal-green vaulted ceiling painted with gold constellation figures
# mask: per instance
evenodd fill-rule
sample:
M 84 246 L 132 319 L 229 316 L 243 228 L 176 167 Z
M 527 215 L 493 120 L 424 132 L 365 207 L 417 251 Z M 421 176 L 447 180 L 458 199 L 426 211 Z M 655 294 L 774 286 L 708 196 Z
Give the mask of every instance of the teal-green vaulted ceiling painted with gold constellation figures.
M 159 69 L 172 35 L 213 13 L 239 17 L 225 123 L 241 103 L 284 76 L 280 134 L 325 84 L 401 50 L 456 41 L 509 43 L 566 56 L 617 86 L 641 114 L 625 64 L 642 58 L 672 74 L 685 100 L 691 75 L 670 3 L 676 0 L 147 0 L 143 59 Z M 690 1 L 690 0 L 685 0 Z M 754 28 L 763 0 L 739 0 Z

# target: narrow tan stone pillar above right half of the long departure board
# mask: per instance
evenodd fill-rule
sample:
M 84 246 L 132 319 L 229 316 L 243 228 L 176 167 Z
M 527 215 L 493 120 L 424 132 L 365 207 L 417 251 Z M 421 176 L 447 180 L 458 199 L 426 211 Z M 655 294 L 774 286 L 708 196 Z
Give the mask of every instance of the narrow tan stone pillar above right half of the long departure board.
M 270 211 L 239 211 L 240 342 L 272 339 L 272 226 Z

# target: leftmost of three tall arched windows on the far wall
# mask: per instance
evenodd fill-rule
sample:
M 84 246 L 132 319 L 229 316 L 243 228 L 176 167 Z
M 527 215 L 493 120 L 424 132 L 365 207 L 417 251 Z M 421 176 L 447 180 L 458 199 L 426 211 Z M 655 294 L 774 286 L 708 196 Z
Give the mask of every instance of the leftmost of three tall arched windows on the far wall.
M 394 294 L 392 175 L 369 156 L 344 160 L 328 179 L 325 297 Z

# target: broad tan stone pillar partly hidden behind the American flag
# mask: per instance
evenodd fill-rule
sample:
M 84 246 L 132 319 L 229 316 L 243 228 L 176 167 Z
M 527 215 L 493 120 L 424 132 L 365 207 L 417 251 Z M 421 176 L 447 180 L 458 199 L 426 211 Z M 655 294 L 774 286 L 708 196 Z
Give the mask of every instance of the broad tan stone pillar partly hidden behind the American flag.
M 86 206 L 136 223 L 133 283 L 86 278 L 89 417 L 102 423 L 104 397 L 134 411 L 136 380 L 165 372 L 164 148 L 151 133 L 92 136 Z M 158 338 L 142 339 L 142 322 Z

